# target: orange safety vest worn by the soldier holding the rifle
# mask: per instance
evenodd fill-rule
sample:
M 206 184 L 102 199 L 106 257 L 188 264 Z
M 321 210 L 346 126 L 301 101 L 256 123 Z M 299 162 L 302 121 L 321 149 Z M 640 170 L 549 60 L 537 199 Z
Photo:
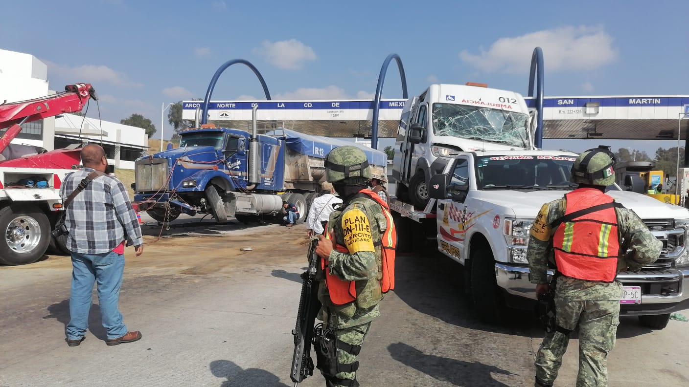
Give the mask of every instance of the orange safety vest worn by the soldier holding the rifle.
M 364 193 L 369 198 L 375 200 L 382 207 L 383 215 L 387 220 L 387 229 L 383 231 L 380 242 L 373 242 L 373 246 L 380 246 L 382 253 L 382 277 L 380 279 L 380 290 L 387 293 L 395 289 L 395 249 L 397 248 L 397 229 L 395 222 L 388 209 L 388 205 L 377 193 L 370 189 L 362 189 L 359 193 Z M 330 238 L 330 229 L 325 226 L 325 238 Z M 349 253 L 346 246 L 336 244 L 335 249 L 340 253 Z M 320 266 L 325 271 L 325 286 L 328 289 L 330 300 L 333 304 L 344 305 L 356 300 L 356 282 L 340 280 L 337 275 L 330 272 L 327 258 L 320 258 Z

